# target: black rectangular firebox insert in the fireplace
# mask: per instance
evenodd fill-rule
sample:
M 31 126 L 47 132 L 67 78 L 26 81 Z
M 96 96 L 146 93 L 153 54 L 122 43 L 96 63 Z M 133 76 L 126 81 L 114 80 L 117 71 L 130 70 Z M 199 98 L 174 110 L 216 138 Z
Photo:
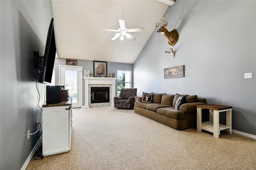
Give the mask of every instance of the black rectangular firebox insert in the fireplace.
M 109 87 L 91 87 L 91 103 L 108 103 Z

